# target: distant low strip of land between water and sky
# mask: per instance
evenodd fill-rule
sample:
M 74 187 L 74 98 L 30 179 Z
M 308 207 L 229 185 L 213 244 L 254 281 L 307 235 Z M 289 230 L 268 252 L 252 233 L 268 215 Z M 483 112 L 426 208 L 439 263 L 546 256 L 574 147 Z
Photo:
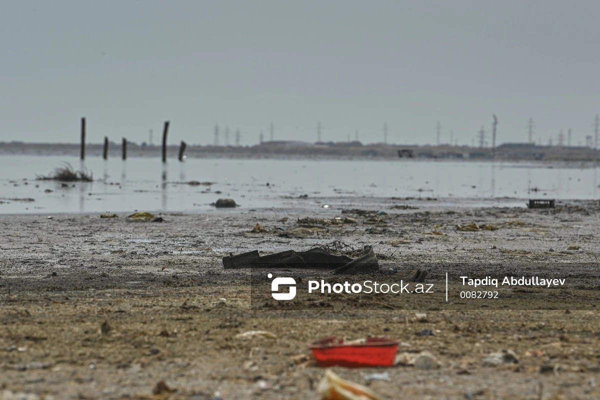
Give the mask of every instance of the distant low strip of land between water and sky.
M 86 157 L 102 157 L 103 144 L 87 143 Z M 178 156 L 179 146 L 167 146 L 167 157 Z M 438 161 L 542 161 L 599 163 L 600 151 L 583 147 L 535 146 L 527 143 L 505 143 L 496 148 L 472 148 L 470 146 L 416 146 L 385 145 L 382 143 L 362 145 L 360 142 L 304 143 L 264 142 L 254 146 L 196 146 L 188 145 L 187 157 L 197 158 L 298 158 L 298 159 L 389 159 Z M 79 143 L 25 143 L 0 142 L 0 155 L 65 155 L 79 157 Z M 161 146 L 128 142 L 127 157 L 161 157 Z M 109 159 L 121 158 L 121 143 L 109 144 Z

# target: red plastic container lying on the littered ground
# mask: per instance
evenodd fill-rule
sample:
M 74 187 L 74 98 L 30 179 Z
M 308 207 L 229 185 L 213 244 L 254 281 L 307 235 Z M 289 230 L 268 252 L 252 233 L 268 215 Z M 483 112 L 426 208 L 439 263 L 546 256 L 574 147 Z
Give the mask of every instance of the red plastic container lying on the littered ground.
M 331 336 L 331 338 L 312 342 L 308 347 L 313 350 L 318 366 L 340 365 L 347 368 L 392 366 L 398 341 L 388 338 L 367 338 L 362 343 L 344 343 L 344 339 Z

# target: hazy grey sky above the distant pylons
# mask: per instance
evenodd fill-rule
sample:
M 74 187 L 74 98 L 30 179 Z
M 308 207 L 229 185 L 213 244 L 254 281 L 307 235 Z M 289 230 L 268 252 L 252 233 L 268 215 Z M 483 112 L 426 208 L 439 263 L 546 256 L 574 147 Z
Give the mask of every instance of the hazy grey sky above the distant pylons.
M 598 1 L 11 1 L 0 7 L 0 140 L 469 144 L 592 134 Z M 223 135 L 221 134 L 221 143 Z

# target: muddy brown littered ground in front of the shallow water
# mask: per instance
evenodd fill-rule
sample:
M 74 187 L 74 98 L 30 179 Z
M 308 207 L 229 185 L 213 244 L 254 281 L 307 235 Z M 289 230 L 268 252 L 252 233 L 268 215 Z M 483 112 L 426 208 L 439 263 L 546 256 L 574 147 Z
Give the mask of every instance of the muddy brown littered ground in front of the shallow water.
M 230 252 L 269 254 L 341 240 L 355 248 L 375 245 L 385 256 L 383 271 L 514 261 L 549 269 L 571 264 L 565 273 L 576 277 L 578 264 L 595 263 L 600 252 L 597 202 L 552 210 L 353 203 L 387 215 L 342 214 L 350 207 L 332 200 L 328 209 L 168 213 L 161 223 L 131 222 L 127 214 L 0 216 L 0 399 L 17 392 L 55 399 L 211 399 L 215 392 L 223 399 L 317 398 L 323 369 L 311 364 L 307 343 L 331 335 L 387 336 L 400 340 L 399 353 L 426 350 L 436 357 L 440 368 L 386 369 L 391 380 L 370 383 L 383 398 L 399 398 L 399 390 L 421 399 L 600 397 L 597 286 L 572 287 L 573 298 L 585 299 L 551 310 L 540 297 L 532 303 L 538 309 L 437 309 L 426 318 L 394 304 L 378 311 L 255 311 L 247 270 L 221 264 Z M 358 223 L 313 224 L 310 232 L 287 237 L 277 229 L 293 231 L 298 218 L 339 216 Z M 497 230 L 455 228 L 472 222 Z M 266 233 L 250 232 L 257 223 Z M 277 339 L 235 338 L 256 329 Z M 425 329 L 433 335 L 416 335 Z M 503 349 L 514 351 L 518 362 L 484 365 Z M 306 362 L 296 363 L 301 354 Z M 382 372 L 334 371 L 363 384 L 365 374 Z M 161 380 L 177 391 L 152 395 Z

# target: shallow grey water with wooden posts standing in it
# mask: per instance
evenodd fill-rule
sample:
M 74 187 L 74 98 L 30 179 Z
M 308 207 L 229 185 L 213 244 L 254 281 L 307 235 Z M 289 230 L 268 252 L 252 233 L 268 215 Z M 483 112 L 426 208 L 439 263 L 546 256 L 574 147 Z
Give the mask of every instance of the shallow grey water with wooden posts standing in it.
M 64 163 L 88 169 L 94 182 L 62 187 L 35 180 Z M 188 181 L 214 184 L 177 183 Z M 530 198 L 596 199 L 599 190 L 598 168 L 555 164 L 187 158 L 163 165 L 150 158 L 81 163 L 76 157 L 32 155 L 0 156 L 0 188 L 0 213 L 190 212 L 210 209 L 220 197 L 247 208 L 285 207 L 304 194 L 313 200 L 431 197 L 438 199 L 428 202 L 433 205 L 524 206 Z M 14 200 L 29 198 L 34 201 Z M 411 201 L 416 200 L 397 203 Z

